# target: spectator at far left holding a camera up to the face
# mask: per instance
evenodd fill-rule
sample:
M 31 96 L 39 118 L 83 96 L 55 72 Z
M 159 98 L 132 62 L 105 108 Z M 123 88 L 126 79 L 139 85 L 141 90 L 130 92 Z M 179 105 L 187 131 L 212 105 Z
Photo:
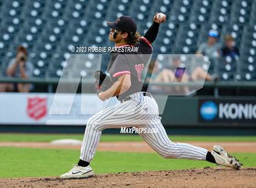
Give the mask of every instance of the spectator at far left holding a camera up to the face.
M 28 79 L 32 76 L 34 65 L 27 59 L 27 49 L 18 47 L 16 58 L 10 60 L 6 75 L 11 78 Z M 5 83 L 0 84 L 0 92 L 29 92 L 32 84 Z

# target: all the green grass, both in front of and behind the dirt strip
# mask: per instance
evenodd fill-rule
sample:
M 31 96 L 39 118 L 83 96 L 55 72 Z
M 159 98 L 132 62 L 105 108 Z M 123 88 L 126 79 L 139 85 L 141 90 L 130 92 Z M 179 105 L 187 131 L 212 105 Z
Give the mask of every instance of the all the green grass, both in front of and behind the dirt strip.
M 169 136 L 172 141 L 255 141 L 255 136 Z M 82 139 L 83 135 L 0 134 L 0 141 L 52 141 L 54 139 Z M 140 136 L 102 135 L 101 141 L 142 141 Z M 256 153 L 231 153 L 245 167 L 256 166 Z M 31 149 L 0 147 L 0 177 L 57 176 L 71 169 L 79 159 L 79 150 Z M 164 159 L 157 153 L 96 152 L 91 163 L 99 173 L 138 172 L 146 170 L 174 170 L 215 167 L 205 161 Z

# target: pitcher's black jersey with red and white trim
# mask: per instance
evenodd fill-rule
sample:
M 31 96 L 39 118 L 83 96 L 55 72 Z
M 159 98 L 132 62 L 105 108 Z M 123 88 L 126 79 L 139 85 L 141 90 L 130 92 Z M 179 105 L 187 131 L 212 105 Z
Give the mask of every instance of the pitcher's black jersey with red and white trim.
M 146 92 L 143 86 L 142 72 L 151 58 L 152 45 L 146 38 L 141 37 L 140 41 L 134 46 L 121 45 L 116 48 L 138 47 L 137 52 L 112 53 L 108 63 L 107 72 L 112 76 L 113 81 L 117 81 L 118 76 L 130 74 L 131 86 L 129 90 L 118 96 L 122 101 L 127 96 L 137 93 Z

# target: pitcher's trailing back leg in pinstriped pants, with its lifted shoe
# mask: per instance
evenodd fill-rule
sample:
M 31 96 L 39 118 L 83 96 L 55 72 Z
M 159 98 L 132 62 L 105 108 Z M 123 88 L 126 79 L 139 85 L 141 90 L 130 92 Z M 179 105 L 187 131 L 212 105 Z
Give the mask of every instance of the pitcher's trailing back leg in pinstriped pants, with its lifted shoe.
M 233 169 L 240 169 L 241 164 L 221 146 L 213 147 L 212 152 L 208 152 L 202 147 L 193 146 L 186 143 L 173 143 L 167 136 L 165 129 L 160 121 L 160 117 L 155 116 L 145 126 L 147 129 L 157 129 L 153 133 L 141 133 L 141 137 L 157 153 L 164 158 L 183 158 L 206 160 L 210 163 L 220 164 Z

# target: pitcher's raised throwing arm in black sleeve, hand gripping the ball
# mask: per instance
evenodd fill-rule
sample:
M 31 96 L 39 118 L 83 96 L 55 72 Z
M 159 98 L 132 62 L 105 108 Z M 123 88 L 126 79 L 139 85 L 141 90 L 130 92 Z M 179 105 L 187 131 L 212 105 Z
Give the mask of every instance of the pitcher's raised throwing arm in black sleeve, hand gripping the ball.
M 153 19 L 153 24 L 151 27 L 149 27 L 148 31 L 145 33 L 144 38 L 146 38 L 149 42 L 154 42 L 155 38 L 157 38 L 157 33 L 159 30 L 159 25 L 163 22 L 166 21 L 166 16 L 163 16 L 163 18 L 157 18 L 157 14 L 155 14 L 154 19 Z

